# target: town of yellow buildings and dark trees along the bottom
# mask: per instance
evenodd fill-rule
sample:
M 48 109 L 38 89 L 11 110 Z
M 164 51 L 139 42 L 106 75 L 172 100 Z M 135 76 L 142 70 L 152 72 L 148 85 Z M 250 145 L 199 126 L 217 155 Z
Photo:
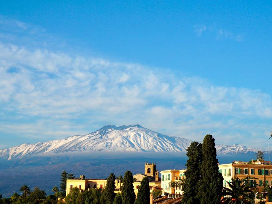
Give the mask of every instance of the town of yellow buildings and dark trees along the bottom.
M 256 152 L 251 161 L 220 164 L 216 159 L 215 139 L 204 137 L 187 148 L 186 169 L 158 170 L 156 162 L 145 162 L 144 172 L 108 178 L 75 177 L 65 170 L 54 195 L 27 185 L 22 195 L 0 199 L 1 204 L 194 204 L 258 203 L 272 204 L 272 164 L 265 153 Z

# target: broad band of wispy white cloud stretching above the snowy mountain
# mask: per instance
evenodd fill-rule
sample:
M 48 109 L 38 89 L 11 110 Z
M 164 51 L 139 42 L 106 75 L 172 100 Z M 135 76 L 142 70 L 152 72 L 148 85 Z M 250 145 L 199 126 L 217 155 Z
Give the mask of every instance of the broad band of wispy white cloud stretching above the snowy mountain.
M 269 94 L 156 67 L 2 41 L 0 76 L 0 133 L 26 142 L 141 124 L 189 139 L 210 133 L 217 143 L 262 147 L 270 131 Z

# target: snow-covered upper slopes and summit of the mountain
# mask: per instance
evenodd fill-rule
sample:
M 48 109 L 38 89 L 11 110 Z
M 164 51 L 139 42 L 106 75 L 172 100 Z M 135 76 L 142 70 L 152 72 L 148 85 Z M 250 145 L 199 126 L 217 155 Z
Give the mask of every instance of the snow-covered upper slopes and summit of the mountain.
M 22 158 L 59 152 L 82 152 L 86 150 L 106 152 L 184 152 L 191 140 L 172 137 L 154 132 L 140 125 L 111 126 L 107 125 L 87 135 L 75 135 L 65 139 L 22 144 L 9 149 L 0 150 L 0 158 Z M 218 153 L 247 153 L 260 149 L 242 145 L 216 145 Z

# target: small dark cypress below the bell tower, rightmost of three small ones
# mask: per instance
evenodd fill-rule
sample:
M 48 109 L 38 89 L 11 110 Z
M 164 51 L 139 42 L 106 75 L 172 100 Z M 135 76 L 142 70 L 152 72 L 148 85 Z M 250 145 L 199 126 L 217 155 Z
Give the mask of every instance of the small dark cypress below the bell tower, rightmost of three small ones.
M 137 204 L 146 204 L 150 202 L 150 188 L 149 181 L 147 177 L 144 177 L 141 181 L 141 186 L 137 194 Z

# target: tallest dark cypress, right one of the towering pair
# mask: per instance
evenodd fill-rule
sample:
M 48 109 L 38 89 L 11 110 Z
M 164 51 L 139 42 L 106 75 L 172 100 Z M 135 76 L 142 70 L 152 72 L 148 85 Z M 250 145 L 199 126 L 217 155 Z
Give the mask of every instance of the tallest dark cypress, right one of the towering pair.
M 223 189 L 223 177 L 219 173 L 216 159 L 215 139 L 206 135 L 202 145 L 201 180 L 198 195 L 201 204 L 217 204 L 220 202 Z

